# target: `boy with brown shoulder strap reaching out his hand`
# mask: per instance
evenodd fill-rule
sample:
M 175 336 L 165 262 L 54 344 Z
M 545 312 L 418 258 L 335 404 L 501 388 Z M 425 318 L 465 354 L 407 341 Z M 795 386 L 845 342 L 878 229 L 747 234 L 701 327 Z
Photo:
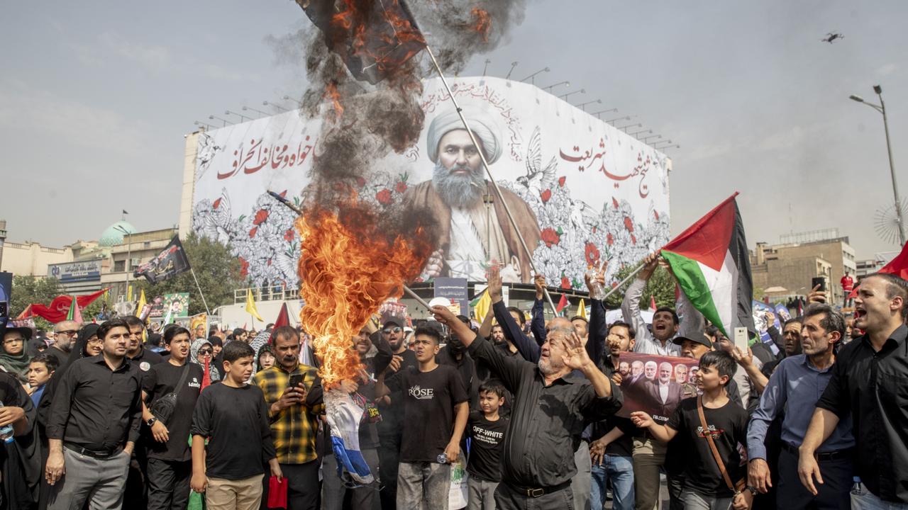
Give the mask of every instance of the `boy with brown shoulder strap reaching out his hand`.
M 644 412 L 631 413 L 637 427 L 646 427 L 656 439 L 671 441 L 676 435 L 685 439 L 688 451 L 696 456 L 686 463 L 685 486 L 681 501 L 690 510 L 746 510 L 754 499 L 754 491 L 745 486 L 745 468 L 741 466 L 739 445 L 747 444 L 747 411 L 728 398 L 725 385 L 735 374 L 735 360 L 724 351 L 711 351 L 700 358 L 696 386 L 703 397 L 686 398 L 676 407 L 666 425 L 656 425 Z M 700 419 L 702 406 L 704 419 Z M 702 423 L 706 421 L 706 427 Z M 725 465 L 728 487 L 719 470 L 708 437 L 712 437 L 719 457 Z

